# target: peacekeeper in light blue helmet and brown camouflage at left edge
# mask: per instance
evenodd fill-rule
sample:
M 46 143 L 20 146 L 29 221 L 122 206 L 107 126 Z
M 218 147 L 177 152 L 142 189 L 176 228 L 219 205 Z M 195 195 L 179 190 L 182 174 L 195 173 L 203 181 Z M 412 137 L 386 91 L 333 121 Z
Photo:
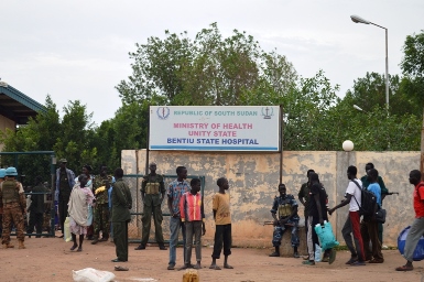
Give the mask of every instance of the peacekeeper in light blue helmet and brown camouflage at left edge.
M 23 215 L 26 213 L 26 199 L 22 184 L 15 180 L 18 171 L 15 167 L 6 170 L 6 180 L 0 184 L 0 207 L 3 209 L 3 232 L 1 243 L 4 249 L 13 248 L 10 243 L 10 229 L 12 223 L 17 228 L 17 238 L 20 249 L 25 249 Z

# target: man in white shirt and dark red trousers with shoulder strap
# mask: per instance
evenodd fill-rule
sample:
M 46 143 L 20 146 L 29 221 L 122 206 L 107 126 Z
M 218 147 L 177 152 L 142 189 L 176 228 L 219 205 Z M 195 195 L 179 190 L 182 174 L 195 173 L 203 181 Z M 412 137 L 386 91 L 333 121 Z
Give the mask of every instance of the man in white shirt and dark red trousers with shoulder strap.
M 362 182 L 357 178 L 358 170 L 356 166 L 350 165 L 347 169 L 347 177 L 349 178 L 349 185 L 346 188 L 345 197 L 339 205 L 328 209 L 328 214 L 331 215 L 337 208 L 349 204 L 349 216 L 346 219 L 345 226 L 341 229 L 343 237 L 346 241 L 346 246 L 350 250 L 350 259 L 346 264 L 350 265 L 365 265 L 363 254 L 363 241 L 360 232 L 360 214 L 359 205 L 361 203 L 361 187 Z M 354 240 L 352 236 L 354 235 Z M 355 246 L 354 246 L 355 242 Z

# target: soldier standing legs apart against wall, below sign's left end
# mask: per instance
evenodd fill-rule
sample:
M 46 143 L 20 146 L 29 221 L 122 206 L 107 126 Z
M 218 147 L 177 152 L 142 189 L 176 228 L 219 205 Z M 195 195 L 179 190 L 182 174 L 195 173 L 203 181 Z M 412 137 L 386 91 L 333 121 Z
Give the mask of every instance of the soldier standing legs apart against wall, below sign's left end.
M 141 243 L 135 250 L 144 250 L 145 245 L 149 241 L 150 227 L 152 223 L 152 213 L 154 220 L 154 236 L 159 248 L 161 250 L 166 250 L 163 240 L 162 234 L 162 209 L 161 205 L 165 198 L 165 185 L 163 183 L 163 176 L 156 174 L 156 164 L 150 163 L 149 165 L 150 174 L 143 176 L 143 182 L 141 184 L 141 199 L 143 202 L 143 217 L 142 230 L 141 230 Z

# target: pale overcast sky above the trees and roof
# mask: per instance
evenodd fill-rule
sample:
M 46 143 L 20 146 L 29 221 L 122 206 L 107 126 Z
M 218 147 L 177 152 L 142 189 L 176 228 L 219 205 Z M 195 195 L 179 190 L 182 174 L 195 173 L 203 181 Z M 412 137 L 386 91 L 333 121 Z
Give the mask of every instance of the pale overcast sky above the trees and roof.
M 323 69 L 344 97 L 354 79 L 384 73 L 384 30 L 351 14 L 389 29 L 389 73 L 400 74 L 406 35 L 424 29 L 423 0 L 0 0 L 0 77 L 41 104 L 50 95 L 61 115 L 80 100 L 99 126 L 121 106 L 115 86 L 131 74 L 135 43 L 217 22 L 225 36 L 237 29 L 276 48 L 303 77 Z

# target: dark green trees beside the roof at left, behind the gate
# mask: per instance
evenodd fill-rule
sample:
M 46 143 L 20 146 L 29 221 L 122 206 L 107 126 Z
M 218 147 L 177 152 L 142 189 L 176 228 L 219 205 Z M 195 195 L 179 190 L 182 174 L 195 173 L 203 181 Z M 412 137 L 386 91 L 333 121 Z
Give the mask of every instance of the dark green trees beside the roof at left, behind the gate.
M 86 106 L 79 101 L 69 101 L 63 108 L 65 115 L 62 120 L 50 96 L 46 97 L 45 108 L 45 112 L 40 112 L 15 132 L 7 130 L 1 133 L 3 152 L 54 151 L 57 160 L 68 160 L 68 167 L 76 174 L 80 173 L 84 164 L 97 163 L 97 148 L 93 144 L 95 131 L 90 123 L 91 115 L 86 113 Z M 51 180 L 50 155 L 6 156 L 1 162 L 2 166 L 18 163 L 19 173 L 26 176 L 25 185 L 34 184 L 37 175 L 44 181 Z

